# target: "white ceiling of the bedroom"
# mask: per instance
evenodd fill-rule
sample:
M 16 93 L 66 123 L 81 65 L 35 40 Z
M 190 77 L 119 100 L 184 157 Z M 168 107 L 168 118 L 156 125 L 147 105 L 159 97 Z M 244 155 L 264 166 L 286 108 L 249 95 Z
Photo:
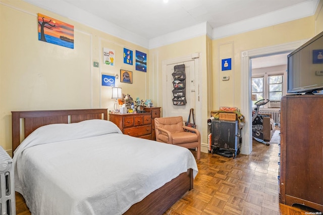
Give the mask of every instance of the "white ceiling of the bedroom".
M 285 18 L 301 14 L 309 3 L 311 15 L 318 0 L 25 0 L 73 19 L 96 17 L 147 40 L 207 22 L 212 29 L 286 10 Z M 295 13 L 288 11 L 295 7 Z M 74 14 L 73 14 L 74 13 Z M 300 15 L 303 16 L 303 15 Z M 277 17 L 280 18 L 280 17 Z M 299 17 L 302 18 L 302 17 Z M 267 18 L 268 19 L 268 18 Z M 288 18 L 285 18 L 288 20 Z M 98 22 L 98 21 L 92 21 Z M 93 23 L 94 24 L 94 23 Z M 263 23 L 265 24 L 265 23 Z

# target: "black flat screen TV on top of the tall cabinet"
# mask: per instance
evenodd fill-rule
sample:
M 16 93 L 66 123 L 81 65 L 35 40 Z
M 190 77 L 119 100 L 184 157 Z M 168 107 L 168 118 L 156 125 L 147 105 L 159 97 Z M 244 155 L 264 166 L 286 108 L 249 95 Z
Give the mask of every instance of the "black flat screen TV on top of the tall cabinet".
M 323 89 L 323 32 L 287 56 L 287 93 Z

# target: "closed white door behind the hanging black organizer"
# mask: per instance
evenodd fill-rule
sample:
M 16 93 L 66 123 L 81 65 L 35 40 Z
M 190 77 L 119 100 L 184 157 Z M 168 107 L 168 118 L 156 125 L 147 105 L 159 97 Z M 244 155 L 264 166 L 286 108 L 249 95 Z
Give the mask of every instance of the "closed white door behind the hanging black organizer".
M 185 105 L 174 105 L 173 103 L 173 76 L 172 73 L 174 72 L 174 66 L 176 65 L 185 65 L 185 98 L 186 98 L 186 104 Z M 188 115 L 190 113 L 190 109 L 194 109 L 194 114 L 196 112 L 195 109 L 195 103 L 196 103 L 196 84 L 195 83 L 195 63 L 194 60 L 183 62 L 183 63 L 177 63 L 177 64 L 169 64 L 167 65 L 167 77 L 166 77 L 166 89 L 165 93 L 167 94 L 167 106 L 166 108 L 166 116 L 164 117 L 176 117 L 176 116 L 182 116 L 183 121 L 187 121 Z M 192 119 L 192 118 L 191 118 Z M 196 121 L 196 117 L 195 117 Z M 191 120 L 192 122 L 192 120 Z

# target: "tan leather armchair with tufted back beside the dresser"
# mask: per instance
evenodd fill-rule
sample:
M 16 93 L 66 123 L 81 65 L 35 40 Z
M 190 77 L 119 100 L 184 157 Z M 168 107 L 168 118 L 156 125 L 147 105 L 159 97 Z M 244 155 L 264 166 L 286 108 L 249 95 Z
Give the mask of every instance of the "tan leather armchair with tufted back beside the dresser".
M 155 118 L 156 141 L 185 148 L 197 148 L 197 159 L 201 157 L 201 134 L 197 129 L 183 125 L 182 117 Z M 184 129 L 194 131 L 186 132 Z

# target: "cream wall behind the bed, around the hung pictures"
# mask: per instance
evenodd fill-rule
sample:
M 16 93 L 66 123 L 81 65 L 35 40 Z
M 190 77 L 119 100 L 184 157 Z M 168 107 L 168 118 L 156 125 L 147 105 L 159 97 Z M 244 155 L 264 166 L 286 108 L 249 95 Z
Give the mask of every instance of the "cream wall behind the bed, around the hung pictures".
M 11 111 L 108 108 L 111 87 L 101 74 L 133 72 L 133 84 L 116 84 L 145 100 L 146 73 L 123 63 L 123 48 L 148 50 L 23 1 L 0 2 L 0 145 L 10 152 Z M 39 41 L 37 14 L 74 25 L 74 49 Z M 103 47 L 115 49 L 115 66 L 103 65 Z M 99 62 L 99 68 L 93 67 Z M 149 73 L 149 67 L 147 68 Z

